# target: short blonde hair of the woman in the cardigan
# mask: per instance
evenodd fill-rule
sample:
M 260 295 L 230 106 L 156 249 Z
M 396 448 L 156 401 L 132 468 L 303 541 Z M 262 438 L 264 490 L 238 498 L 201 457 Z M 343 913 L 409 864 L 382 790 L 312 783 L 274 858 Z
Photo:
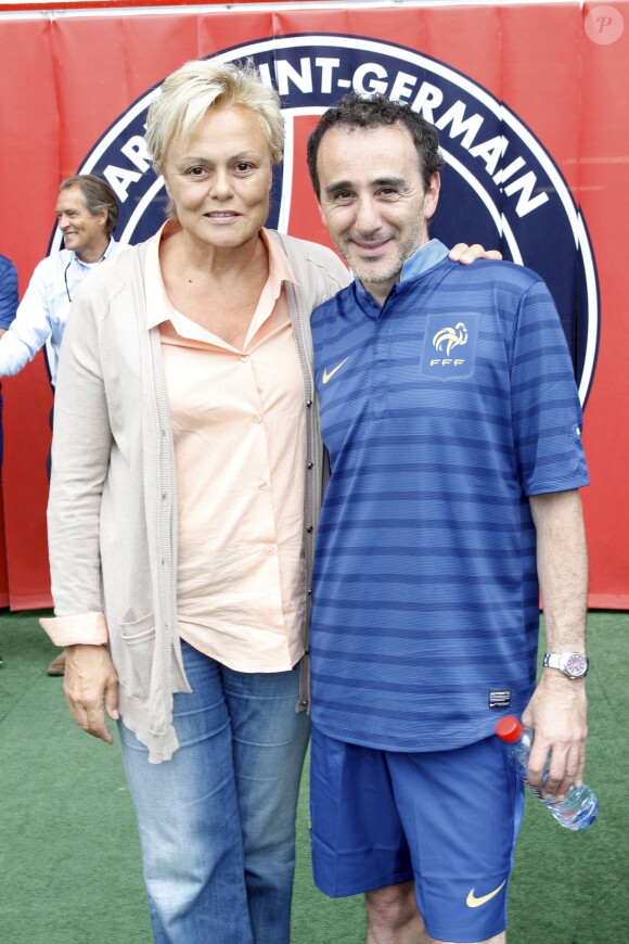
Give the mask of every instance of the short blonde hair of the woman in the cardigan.
M 279 164 L 284 145 L 280 97 L 262 84 L 253 62 L 244 65 L 214 60 L 184 63 L 162 84 L 146 118 L 146 144 L 157 174 L 164 173 L 166 152 L 175 139 L 185 143 L 213 107 L 249 109 L 262 126 L 271 162 Z

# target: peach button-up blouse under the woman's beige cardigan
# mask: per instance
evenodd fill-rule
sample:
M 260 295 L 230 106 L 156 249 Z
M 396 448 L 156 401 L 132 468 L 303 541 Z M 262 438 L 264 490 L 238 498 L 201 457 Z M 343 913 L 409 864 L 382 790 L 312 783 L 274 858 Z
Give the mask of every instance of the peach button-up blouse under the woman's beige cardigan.
M 146 318 L 175 439 L 180 635 L 239 672 L 287 671 L 305 617 L 304 388 L 283 288 L 295 276 L 262 230 L 269 278 L 239 349 L 170 304 L 163 235 L 146 257 Z

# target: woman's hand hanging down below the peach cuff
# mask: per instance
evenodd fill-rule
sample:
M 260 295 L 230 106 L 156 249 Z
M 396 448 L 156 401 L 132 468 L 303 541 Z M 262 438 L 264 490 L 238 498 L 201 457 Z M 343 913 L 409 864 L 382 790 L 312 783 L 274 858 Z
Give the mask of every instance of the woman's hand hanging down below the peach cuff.
M 73 720 L 107 744 L 114 739 L 105 725 L 118 715 L 118 676 L 106 646 L 68 646 L 63 690 Z

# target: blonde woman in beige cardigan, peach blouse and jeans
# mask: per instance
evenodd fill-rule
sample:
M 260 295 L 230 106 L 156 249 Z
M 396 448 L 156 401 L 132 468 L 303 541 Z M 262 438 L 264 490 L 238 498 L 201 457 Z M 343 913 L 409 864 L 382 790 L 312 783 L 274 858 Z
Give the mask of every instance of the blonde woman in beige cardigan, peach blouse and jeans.
M 185 64 L 146 140 L 169 219 L 65 333 L 42 625 L 75 722 L 111 742 L 118 720 L 155 941 L 282 944 L 323 473 L 308 319 L 349 276 L 264 229 L 283 124 L 253 67 Z

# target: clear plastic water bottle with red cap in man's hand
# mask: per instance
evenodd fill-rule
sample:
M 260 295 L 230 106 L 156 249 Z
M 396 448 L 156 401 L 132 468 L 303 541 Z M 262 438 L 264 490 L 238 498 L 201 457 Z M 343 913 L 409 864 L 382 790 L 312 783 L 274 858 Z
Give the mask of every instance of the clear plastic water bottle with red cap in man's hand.
M 590 826 L 599 815 L 599 801 L 596 794 L 583 783 L 581 787 L 570 787 L 568 795 L 561 802 L 557 800 L 544 800 L 539 787 L 531 787 L 526 779 L 528 755 L 532 747 L 532 730 L 524 728 L 522 723 L 512 715 L 500 718 L 496 725 L 496 733 L 501 741 L 509 745 L 509 755 L 516 773 L 522 777 L 528 789 L 535 793 L 538 800 L 548 806 L 556 821 L 565 829 L 585 829 Z M 545 773 L 544 773 L 545 778 Z

